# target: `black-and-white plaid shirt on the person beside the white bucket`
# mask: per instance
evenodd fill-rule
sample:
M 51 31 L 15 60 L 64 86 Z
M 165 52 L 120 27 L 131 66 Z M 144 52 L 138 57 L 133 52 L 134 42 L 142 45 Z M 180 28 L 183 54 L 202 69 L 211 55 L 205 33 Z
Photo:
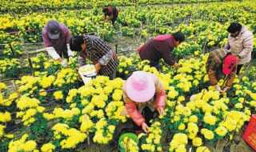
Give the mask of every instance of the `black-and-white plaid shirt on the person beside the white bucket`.
M 99 74 L 105 76 L 113 74 L 114 70 L 118 67 L 119 60 L 110 46 L 107 46 L 101 38 L 95 36 L 84 35 L 84 38 L 86 42 L 86 53 L 84 51 L 78 52 L 80 56 L 78 57 L 79 66 L 85 65 L 85 58 L 88 58 L 94 64 L 97 62 L 101 63 L 102 68 L 99 70 Z

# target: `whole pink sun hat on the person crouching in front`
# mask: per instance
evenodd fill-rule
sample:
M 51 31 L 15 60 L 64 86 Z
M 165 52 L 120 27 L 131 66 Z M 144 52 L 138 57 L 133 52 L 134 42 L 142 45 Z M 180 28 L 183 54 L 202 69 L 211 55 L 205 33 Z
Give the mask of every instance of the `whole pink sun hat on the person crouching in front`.
M 147 102 L 154 97 L 154 81 L 146 72 L 135 71 L 126 81 L 126 93 L 134 102 Z

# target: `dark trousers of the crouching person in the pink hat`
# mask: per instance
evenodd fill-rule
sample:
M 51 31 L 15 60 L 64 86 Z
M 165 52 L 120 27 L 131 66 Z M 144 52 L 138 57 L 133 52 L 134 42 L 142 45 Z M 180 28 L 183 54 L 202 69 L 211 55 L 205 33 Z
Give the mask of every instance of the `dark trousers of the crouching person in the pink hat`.
M 150 120 L 154 118 L 154 111 L 152 112 L 148 106 L 145 106 L 142 110 L 142 116 L 145 118 L 146 125 L 151 126 Z M 133 121 L 134 130 L 142 130 L 142 126 L 138 126 Z

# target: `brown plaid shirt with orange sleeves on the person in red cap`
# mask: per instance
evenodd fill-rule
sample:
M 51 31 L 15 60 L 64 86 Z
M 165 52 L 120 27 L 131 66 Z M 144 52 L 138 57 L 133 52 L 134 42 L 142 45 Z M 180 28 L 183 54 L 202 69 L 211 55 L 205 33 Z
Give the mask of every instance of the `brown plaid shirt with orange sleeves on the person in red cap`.
M 209 75 L 209 81 L 212 85 L 217 85 L 219 79 L 225 78 L 225 74 L 222 73 L 222 61 L 229 52 L 230 50 L 226 49 L 218 49 L 210 52 L 206 62 L 206 72 Z M 236 69 L 234 67 L 232 72 L 227 76 L 226 86 L 232 86 Z

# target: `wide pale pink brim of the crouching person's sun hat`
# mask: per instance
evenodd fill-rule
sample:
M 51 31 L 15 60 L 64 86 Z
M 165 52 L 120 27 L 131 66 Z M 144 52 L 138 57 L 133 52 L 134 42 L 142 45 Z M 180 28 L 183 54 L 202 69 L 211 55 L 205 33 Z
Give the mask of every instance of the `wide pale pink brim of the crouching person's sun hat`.
M 147 76 L 148 77 L 148 76 Z M 134 102 L 147 102 L 154 97 L 155 86 L 151 78 L 147 78 L 148 86 L 144 90 L 135 90 L 131 85 L 131 79 L 126 81 L 126 93 L 128 97 Z

